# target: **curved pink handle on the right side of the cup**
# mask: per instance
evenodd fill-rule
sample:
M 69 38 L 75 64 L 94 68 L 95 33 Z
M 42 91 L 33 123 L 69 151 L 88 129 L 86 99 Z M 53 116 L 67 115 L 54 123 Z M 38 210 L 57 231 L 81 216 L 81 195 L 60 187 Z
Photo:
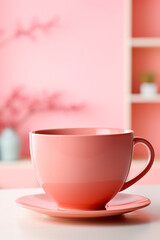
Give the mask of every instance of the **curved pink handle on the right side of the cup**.
M 126 188 L 130 187 L 135 182 L 137 182 L 139 179 L 141 179 L 150 170 L 150 168 L 152 167 L 152 164 L 154 162 L 155 153 L 154 153 L 154 149 L 153 149 L 152 145 L 150 144 L 150 142 L 148 142 L 144 138 L 134 137 L 133 146 L 135 146 L 137 143 L 142 143 L 147 147 L 148 153 L 149 153 L 148 162 L 147 162 L 146 166 L 144 167 L 144 169 L 137 176 L 135 176 L 131 180 L 124 183 L 124 185 L 122 186 L 120 191 L 125 190 Z

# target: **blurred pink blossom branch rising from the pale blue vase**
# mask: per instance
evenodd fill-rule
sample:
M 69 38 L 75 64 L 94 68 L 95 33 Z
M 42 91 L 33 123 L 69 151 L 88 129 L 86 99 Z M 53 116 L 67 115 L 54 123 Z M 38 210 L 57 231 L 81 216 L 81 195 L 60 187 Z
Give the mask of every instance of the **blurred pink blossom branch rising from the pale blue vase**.
M 60 93 L 42 92 L 39 95 L 29 96 L 22 88 L 15 88 L 0 106 L 0 130 L 5 127 L 18 128 L 30 116 L 38 112 L 77 112 L 85 107 L 84 104 L 60 104 L 61 95 Z

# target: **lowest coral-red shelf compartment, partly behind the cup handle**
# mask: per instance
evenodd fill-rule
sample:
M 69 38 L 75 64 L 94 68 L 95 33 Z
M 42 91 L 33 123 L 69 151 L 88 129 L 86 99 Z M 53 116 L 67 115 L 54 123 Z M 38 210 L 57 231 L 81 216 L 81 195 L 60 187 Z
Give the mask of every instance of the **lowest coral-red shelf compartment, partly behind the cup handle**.
M 134 103 L 131 106 L 131 128 L 135 136 L 144 137 L 155 149 L 156 158 L 160 158 L 160 105 L 154 103 Z M 134 158 L 146 158 L 147 151 L 142 144 L 136 146 Z

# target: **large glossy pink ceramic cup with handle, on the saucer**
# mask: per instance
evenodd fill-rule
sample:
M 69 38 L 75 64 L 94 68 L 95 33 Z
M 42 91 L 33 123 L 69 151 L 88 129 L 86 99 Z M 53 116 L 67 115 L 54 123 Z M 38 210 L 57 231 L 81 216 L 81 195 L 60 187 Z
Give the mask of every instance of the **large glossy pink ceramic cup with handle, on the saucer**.
M 126 181 L 136 143 L 148 148 L 146 167 Z M 60 208 L 102 209 L 151 168 L 152 145 L 132 130 L 70 128 L 30 133 L 31 158 L 38 181 Z

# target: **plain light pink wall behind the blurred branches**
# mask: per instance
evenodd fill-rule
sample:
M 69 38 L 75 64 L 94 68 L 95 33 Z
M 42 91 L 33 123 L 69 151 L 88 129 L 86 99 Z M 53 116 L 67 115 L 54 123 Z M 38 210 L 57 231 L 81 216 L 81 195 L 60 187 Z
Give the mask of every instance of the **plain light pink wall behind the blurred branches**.
M 22 37 L 0 47 L 1 99 L 14 86 L 29 92 L 66 93 L 66 102 L 85 102 L 79 113 L 37 114 L 19 128 L 22 156 L 28 131 L 39 128 L 123 127 L 123 0 L 0 0 L 0 39 L 34 18 L 58 16 L 49 34 Z M 4 29 L 4 31 L 3 31 Z

